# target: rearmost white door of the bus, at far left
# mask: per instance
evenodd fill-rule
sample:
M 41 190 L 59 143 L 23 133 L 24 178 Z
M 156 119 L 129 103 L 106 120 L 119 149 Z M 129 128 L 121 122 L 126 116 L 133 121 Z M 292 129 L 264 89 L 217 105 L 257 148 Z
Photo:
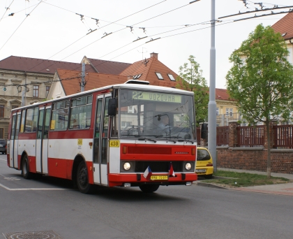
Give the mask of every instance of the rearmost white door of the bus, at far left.
M 11 140 L 10 140 L 10 152 L 12 152 L 12 157 L 10 157 L 10 166 L 13 168 L 18 168 L 18 133 L 20 133 L 20 113 L 13 115 L 13 125 L 11 128 Z

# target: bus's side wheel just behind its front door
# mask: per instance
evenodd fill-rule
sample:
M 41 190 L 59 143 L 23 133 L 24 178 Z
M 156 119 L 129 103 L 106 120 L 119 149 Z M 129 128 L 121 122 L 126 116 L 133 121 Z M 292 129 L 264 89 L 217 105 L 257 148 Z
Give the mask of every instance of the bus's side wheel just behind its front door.
M 83 194 L 91 194 L 93 185 L 89 184 L 89 175 L 87 173 L 87 165 L 81 161 L 77 168 L 77 187 Z

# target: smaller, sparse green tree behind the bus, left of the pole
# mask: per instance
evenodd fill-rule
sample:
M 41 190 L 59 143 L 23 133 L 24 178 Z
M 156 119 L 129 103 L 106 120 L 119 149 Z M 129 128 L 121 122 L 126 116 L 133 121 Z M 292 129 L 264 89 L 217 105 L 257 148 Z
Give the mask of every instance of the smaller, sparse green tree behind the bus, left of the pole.
M 206 79 L 202 76 L 200 64 L 195 61 L 195 57 L 190 55 L 188 61 L 188 63 L 179 67 L 176 87 L 195 93 L 195 120 L 198 126 L 200 122 L 207 120 L 209 88 L 206 85 Z

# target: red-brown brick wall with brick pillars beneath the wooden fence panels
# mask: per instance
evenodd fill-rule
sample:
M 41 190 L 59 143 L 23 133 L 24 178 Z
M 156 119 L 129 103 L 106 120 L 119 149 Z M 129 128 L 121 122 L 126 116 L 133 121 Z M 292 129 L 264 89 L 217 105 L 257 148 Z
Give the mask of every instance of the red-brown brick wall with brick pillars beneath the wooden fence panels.
M 270 145 L 271 145 L 271 172 L 272 173 L 293 173 L 293 150 L 273 149 L 273 123 L 270 124 Z M 217 147 L 217 167 L 233 168 L 250 171 L 266 172 L 267 168 L 267 147 L 266 129 L 264 130 L 263 147 L 237 147 L 237 122 L 229 123 L 229 144 Z M 200 145 L 205 146 L 206 142 L 200 140 Z

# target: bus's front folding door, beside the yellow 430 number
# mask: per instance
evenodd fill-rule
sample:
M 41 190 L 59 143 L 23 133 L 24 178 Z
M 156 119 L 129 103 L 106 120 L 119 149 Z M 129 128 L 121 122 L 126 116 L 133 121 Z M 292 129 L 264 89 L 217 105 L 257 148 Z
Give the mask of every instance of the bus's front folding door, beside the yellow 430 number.
M 108 102 L 111 94 L 98 96 L 96 109 L 96 126 L 93 149 L 93 181 L 96 184 L 108 184 Z

